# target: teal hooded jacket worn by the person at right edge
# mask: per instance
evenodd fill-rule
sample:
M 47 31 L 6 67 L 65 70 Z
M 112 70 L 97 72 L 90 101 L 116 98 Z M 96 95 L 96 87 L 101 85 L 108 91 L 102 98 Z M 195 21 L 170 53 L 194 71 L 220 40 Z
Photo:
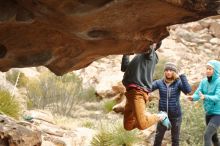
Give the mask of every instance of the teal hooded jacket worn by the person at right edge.
M 205 96 L 203 106 L 206 114 L 220 115 L 220 62 L 211 60 L 208 65 L 214 68 L 212 79 L 208 82 L 208 79 L 204 78 L 200 82 L 198 89 L 193 94 L 193 100 L 199 100 L 199 92 L 201 92 Z

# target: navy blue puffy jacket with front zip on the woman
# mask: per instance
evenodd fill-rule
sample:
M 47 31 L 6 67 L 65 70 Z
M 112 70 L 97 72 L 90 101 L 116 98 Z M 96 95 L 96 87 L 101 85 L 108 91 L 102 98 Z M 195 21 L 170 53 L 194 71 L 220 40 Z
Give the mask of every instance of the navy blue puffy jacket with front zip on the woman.
M 169 86 L 164 79 L 153 82 L 152 91 L 159 89 L 159 111 L 166 111 L 170 118 L 180 117 L 182 115 L 180 106 L 180 93 L 184 94 L 191 92 L 191 87 L 185 75 L 180 75 L 180 78 L 175 80 Z

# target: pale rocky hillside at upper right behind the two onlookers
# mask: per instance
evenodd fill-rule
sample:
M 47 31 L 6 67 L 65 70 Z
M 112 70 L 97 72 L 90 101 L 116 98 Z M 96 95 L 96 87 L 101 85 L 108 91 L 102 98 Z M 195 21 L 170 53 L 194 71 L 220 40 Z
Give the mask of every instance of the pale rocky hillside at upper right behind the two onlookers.
M 172 26 L 170 36 L 163 41 L 160 54 L 167 60 L 176 62 L 191 84 L 198 84 L 206 76 L 207 62 L 220 59 L 220 36 L 217 28 L 220 28 L 219 16 Z

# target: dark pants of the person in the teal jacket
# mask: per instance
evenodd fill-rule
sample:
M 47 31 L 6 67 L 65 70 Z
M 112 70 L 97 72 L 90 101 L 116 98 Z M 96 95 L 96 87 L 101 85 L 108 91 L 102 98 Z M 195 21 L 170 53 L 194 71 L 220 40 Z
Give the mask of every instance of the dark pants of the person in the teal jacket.
M 217 130 L 220 126 L 220 115 L 206 115 L 206 130 L 204 134 L 204 146 L 220 146 Z

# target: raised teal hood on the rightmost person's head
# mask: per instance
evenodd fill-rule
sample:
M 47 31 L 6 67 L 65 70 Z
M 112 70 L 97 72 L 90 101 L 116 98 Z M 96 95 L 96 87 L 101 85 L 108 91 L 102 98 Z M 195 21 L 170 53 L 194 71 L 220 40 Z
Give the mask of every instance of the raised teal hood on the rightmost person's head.
M 211 66 L 214 69 L 214 73 L 212 75 L 212 80 L 216 80 L 220 77 L 220 62 L 217 60 L 210 60 L 207 65 Z

